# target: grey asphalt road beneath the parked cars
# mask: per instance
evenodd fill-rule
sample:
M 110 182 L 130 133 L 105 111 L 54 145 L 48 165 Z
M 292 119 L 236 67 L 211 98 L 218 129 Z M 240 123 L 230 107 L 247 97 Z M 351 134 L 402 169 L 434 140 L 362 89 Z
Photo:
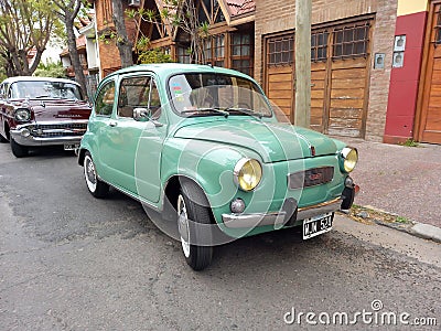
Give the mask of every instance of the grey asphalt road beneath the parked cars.
M 280 231 L 217 247 L 194 273 L 139 203 L 94 199 L 82 171 L 71 152 L 0 145 L 0 330 L 320 330 L 326 316 L 341 330 L 344 313 L 351 330 L 440 328 L 439 244 L 337 216 L 306 242 Z

